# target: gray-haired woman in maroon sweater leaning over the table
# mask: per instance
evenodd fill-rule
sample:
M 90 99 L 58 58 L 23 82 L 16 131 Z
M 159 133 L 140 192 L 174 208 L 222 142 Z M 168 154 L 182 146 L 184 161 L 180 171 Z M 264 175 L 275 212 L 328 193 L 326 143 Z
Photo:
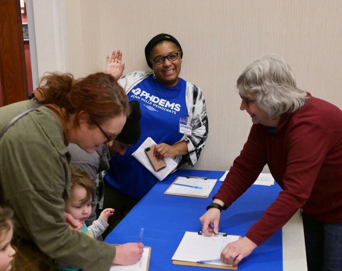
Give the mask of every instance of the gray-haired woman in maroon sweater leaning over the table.
M 290 67 L 275 55 L 248 66 L 237 88 L 240 110 L 253 125 L 200 218 L 202 230 L 218 232 L 221 211 L 267 164 L 282 191 L 245 237 L 222 250 L 221 260 L 237 265 L 301 208 L 308 270 L 342 270 L 342 111 L 297 88 Z

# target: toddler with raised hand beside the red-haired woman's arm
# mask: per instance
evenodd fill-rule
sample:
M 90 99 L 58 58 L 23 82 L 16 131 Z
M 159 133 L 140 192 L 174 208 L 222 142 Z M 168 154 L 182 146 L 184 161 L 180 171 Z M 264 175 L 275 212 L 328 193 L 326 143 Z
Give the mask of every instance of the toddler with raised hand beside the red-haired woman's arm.
M 70 167 L 71 174 L 71 196 L 65 201 L 65 212 L 82 223 L 81 232 L 89 237 L 97 239 L 108 227 L 108 217 L 113 215 L 114 209 L 104 209 L 100 217 L 89 227 L 84 224 L 91 214 L 91 202 L 95 195 L 92 181 L 88 174 L 78 168 Z M 57 263 L 56 271 L 76 271 L 77 267 L 66 266 L 63 263 Z M 0 270 L 1 271 L 1 270 Z

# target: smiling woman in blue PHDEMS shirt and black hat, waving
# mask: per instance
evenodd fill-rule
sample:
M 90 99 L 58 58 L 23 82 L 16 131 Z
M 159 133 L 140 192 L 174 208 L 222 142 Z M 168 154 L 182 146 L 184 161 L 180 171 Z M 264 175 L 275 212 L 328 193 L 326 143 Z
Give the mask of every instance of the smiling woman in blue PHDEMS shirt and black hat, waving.
M 124 64 L 122 53 L 107 56 L 106 73 L 118 78 Z M 194 166 L 208 137 L 206 104 L 201 90 L 179 77 L 183 51 L 179 42 L 168 34 L 153 37 L 145 47 L 145 57 L 153 72 L 136 71 L 123 76 L 118 83 L 130 101 L 140 102 L 141 136 L 137 144 L 122 156 L 110 160 L 105 175 L 104 207 L 115 209 L 109 233 L 114 226 L 146 195 L 158 179 L 140 164 L 132 153 L 151 137 L 158 145 L 158 159 L 172 157 L 178 165 Z M 121 74 L 120 74 L 121 73 Z M 120 74 L 118 76 L 118 74 Z M 180 120 L 191 126 L 188 134 L 180 133 Z M 184 122 L 183 122 L 184 123 Z M 115 221 L 115 222 L 113 222 Z

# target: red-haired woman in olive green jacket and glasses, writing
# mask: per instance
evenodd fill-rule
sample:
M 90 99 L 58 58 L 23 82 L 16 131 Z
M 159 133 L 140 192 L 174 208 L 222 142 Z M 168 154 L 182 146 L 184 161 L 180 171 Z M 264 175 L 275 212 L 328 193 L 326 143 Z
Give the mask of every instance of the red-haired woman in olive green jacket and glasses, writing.
M 0 195 L 14 210 L 15 265 L 36 270 L 36 262 L 42 270 L 53 270 L 54 259 L 80 269 L 109 270 L 112 263 L 133 264 L 141 257 L 143 244 L 115 247 L 96 241 L 79 233 L 75 221 L 69 222 L 76 230 L 70 229 L 64 217 L 70 196 L 67 145 L 75 143 L 88 153 L 111 146 L 128 114 L 123 89 L 104 73 L 78 80 L 71 74 L 46 75 L 33 99 L 0 108 Z

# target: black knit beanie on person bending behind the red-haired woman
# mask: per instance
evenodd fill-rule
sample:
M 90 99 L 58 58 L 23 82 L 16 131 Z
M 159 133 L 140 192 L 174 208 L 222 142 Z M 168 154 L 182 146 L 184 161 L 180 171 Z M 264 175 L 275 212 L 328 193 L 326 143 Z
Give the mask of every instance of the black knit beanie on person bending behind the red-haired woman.
M 140 123 L 141 111 L 139 102 L 134 100 L 129 102 L 131 113 L 127 117 L 126 123 L 122 128 L 121 133 L 116 140 L 127 145 L 134 145 L 138 142 L 140 137 Z

